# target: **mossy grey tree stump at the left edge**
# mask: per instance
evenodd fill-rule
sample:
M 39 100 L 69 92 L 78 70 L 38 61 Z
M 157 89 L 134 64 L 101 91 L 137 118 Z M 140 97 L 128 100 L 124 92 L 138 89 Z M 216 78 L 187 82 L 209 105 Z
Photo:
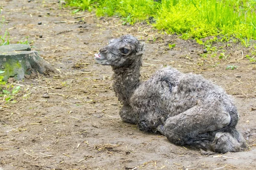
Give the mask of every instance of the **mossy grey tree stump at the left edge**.
M 17 50 L 28 50 L 29 48 L 27 45 L 11 45 L 10 47 L 4 48 L 9 49 L 5 52 L 1 52 L 0 49 L 0 71 L 5 71 L 4 73 L 0 74 L 0 76 L 3 76 L 4 81 L 7 81 L 9 77 L 22 80 L 24 79 L 25 75 L 30 75 L 30 77 L 33 78 L 35 77 L 33 76 L 34 74 L 50 74 L 56 72 L 48 62 L 38 55 L 37 51 Z M 11 49 L 14 51 L 10 51 Z

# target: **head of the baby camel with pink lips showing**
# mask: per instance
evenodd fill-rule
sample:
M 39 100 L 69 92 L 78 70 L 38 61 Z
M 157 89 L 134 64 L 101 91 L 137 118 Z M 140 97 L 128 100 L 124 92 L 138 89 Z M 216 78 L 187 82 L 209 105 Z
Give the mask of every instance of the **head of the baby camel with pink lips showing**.
M 136 37 L 123 35 L 114 38 L 108 45 L 99 49 L 95 60 L 101 65 L 111 65 L 115 68 L 126 67 L 141 59 L 144 52 L 144 43 L 140 43 Z

